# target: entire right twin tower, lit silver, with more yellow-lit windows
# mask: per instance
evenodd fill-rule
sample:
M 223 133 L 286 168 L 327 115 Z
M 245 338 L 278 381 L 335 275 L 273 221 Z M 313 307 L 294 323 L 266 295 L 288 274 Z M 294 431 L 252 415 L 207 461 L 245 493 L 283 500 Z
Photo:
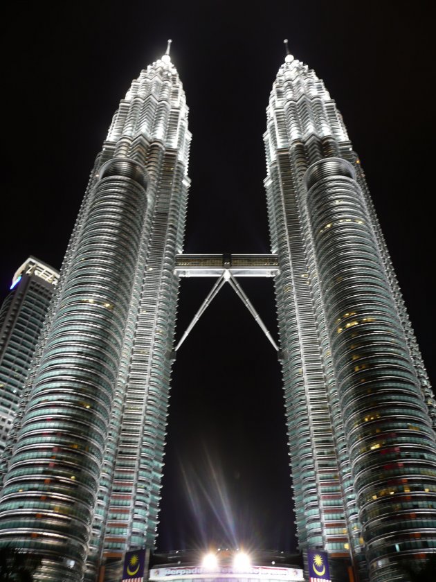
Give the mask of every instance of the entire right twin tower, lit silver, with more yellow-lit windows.
M 436 552 L 435 400 L 342 117 L 292 55 L 264 140 L 300 548 L 402 579 Z

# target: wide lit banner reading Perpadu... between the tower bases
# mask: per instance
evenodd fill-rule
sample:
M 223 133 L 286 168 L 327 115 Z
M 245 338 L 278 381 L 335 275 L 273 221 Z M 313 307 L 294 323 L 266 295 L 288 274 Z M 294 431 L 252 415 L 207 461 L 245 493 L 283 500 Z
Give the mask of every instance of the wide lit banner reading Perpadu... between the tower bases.
M 215 578 L 249 578 L 251 580 L 286 580 L 292 582 L 303 581 L 303 572 L 299 568 L 282 568 L 270 566 L 251 566 L 238 570 L 231 566 L 217 567 L 213 570 L 201 566 L 152 568 L 149 579 L 176 580 L 176 579 L 215 579 Z

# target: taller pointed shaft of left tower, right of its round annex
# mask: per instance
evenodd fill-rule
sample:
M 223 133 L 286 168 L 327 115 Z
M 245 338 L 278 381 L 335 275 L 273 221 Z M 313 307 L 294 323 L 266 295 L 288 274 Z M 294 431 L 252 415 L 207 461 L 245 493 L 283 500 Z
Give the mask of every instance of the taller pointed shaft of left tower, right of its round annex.
M 183 245 L 190 144 L 185 94 L 169 55 L 140 73 L 127 99 L 125 127 L 117 121 L 109 134 L 118 140 L 115 151 L 145 164 L 149 209 L 131 303 L 132 337 L 123 347 L 128 371 L 119 378 L 123 402 L 113 422 L 118 441 L 107 463 L 107 509 L 100 512 L 101 526 L 94 524 L 91 549 L 97 556 L 102 543 L 103 559 L 116 568 L 118 558 L 120 570 L 127 549 L 152 547 L 156 540 L 179 288 L 174 263 Z

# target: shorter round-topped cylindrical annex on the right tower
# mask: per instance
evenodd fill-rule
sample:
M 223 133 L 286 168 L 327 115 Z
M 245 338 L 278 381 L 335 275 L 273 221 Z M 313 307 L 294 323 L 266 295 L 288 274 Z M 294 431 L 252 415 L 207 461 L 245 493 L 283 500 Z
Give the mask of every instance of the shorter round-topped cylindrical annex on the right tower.
M 307 170 L 307 205 L 372 582 L 435 549 L 436 446 L 354 169 Z

